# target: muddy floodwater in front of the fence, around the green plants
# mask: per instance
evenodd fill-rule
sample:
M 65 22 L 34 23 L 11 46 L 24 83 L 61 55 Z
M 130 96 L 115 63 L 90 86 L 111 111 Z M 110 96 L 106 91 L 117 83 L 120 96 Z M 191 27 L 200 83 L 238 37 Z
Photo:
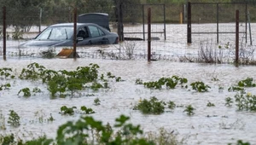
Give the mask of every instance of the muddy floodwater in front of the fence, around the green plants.
M 234 67 L 233 65 L 205 65 L 195 63 L 179 63 L 170 61 L 111 61 L 96 59 L 9 59 L 0 61 L 1 67 L 11 67 L 20 73 L 20 70 L 32 62 L 37 62 L 46 68 L 54 70 L 74 70 L 76 67 L 88 66 L 96 63 L 100 66 L 100 73 L 111 72 L 115 76 L 124 79 L 124 82 L 110 84 L 109 90 L 94 92 L 95 96 L 67 97 L 65 99 L 50 99 L 49 92 L 45 86 L 38 82 L 11 81 L 12 87 L 9 90 L 0 91 L 1 110 L 8 118 L 10 109 L 15 110 L 21 118 L 21 125 L 17 129 L 8 127 L 6 132 L 33 132 L 33 136 L 45 133 L 54 137 L 58 126 L 67 120 L 79 119 L 79 115 L 62 116 L 60 108 L 67 107 L 91 107 L 95 110 L 92 114 L 95 119 L 104 123 L 113 124 L 114 119 L 120 114 L 131 117 L 131 123 L 142 125 L 143 131 L 158 131 L 164 127 L 167 131 L 174 131 L 179 137 L 186 138 L 188 144 L 227 144 L 236 142 L 238 139 L 256 143 L 255 112 L 237 111 L 233 104 L 225 106 L 226 97 L 234 97 L 235 92 L 229 92 L 228 88 L 237 84 L 238 81 L 247 77 L 256 78 L 256 67 Z M 177 87 L 174 90 L 149 90 L 143 85 L 136 85 L 136 79 L 143 81 L 155 81 L 161 77 L 172 77 L 177 75 L 188 78 L 189 83 L 203 81 L 211 89 L 206 93 L 197 93 L 189 89 Z M 218 81 L 212 81 L 218 78 Z M 2 81 L 3 83 L 3 81 Z M 24 87 L 33 88 L 38 86 L 43 94 L 24 98 L 17 96 L 20 89 Z M 224 88 L 219 91 L 219 86 Z M 247 92 L 256 94 L 254 88 L 247 88 Z M 90 92 L 84 92 L 84 94 Z M 168 110 L 160 115 L 143 115 L 133 110 L 140 98 L 149 99 L 156 96 L 165 102 L 173 101 L 177 105 L 195 107 L 195 115 L 188 116 L 183 112 L 184 107 L 177 107 Z M 93 101 L 100 98 L 101 105 L 94 106 Z M 212 102 L 215 107 L 207 107 Z M 50 123 L 38 123 L 35 113 L 44 114 L 48 118 L 51 113 L 54 121 Z M 34 120 L 34 121 L 33 121 Z

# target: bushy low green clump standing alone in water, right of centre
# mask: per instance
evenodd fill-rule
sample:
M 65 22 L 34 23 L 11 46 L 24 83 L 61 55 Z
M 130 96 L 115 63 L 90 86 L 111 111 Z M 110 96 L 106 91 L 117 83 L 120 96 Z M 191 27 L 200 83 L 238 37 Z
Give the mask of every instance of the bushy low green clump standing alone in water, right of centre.
M 160 114 L 164 113 L 165 111 L 165 102 L 158 101 L 155 96 L 150 97 L 150 100 L 143 99 L 142 102 L 139 102 L 135 107 L 134 110 L 139 110 L 142 113 L 153 113 L 153 114 Z

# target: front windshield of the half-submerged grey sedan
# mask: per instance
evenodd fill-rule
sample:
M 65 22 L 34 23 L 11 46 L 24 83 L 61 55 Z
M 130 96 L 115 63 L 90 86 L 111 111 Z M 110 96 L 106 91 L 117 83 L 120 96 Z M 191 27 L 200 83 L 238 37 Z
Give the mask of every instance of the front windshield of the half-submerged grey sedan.
M 63 40 L 70 39 L 73 36 L 73 27 L 48 27 L 44 32 L 38 35 L 38 40 Z

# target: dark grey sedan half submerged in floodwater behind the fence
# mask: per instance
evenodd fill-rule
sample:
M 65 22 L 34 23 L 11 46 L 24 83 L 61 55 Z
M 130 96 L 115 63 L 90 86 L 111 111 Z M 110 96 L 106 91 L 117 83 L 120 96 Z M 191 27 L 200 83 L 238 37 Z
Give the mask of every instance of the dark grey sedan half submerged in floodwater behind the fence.
M 77 45 L 118 44 L 119 37 L 114 32 L 94 23 L 77 23 Z M 43 32 L 21 46 L 73 46 L 73 23 L 48 26 Z

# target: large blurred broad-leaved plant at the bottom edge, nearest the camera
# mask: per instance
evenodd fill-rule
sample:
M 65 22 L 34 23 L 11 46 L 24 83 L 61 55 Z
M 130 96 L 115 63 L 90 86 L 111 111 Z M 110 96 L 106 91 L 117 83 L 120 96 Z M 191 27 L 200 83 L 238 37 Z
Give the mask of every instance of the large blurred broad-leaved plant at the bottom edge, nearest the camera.
M 121 115 L 115 119 L 114 127 L 118 133 L 114 135 L 114 131 L 109 125 L 102 125 L 101 121 L 96 121 L 92 117 L 81 116 L 77 122 L 67 122 L 61 125 L 57 131 L 57 144 L 143 144 L 152 145 L 153 142 L 148 142 L 142 135 L 143 131 L 140 125 L 127 124 L 129 117 Z M 90 131 L 96 131 L 97 136 L 88 134 Z M 67 137 L 68 136 L 68 137 Z M 70 142 L 70 143 L 68 143 Z

